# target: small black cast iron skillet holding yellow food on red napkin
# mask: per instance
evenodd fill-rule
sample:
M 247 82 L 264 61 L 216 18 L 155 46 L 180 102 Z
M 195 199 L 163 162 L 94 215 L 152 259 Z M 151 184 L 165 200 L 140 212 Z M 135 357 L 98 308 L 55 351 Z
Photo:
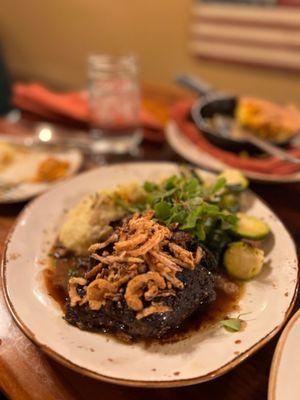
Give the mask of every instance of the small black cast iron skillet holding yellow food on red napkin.
M 291 156 L 278 147 L 286 146 L 289 141 L 275 143 L 263 140 L 252 135 L 251 132 L 244 128 L 239 128 L 241 130 L 240 137 L 233 137 L 232 130 L 226 123 L 226 118 L 224 120 L 221 119 L 217 129 L 211 127 L 208 120 L 215 116 L 223 116 L 227 117 L 228 120 L 234 120 L 238 97 L 217 93 L 207 83 L 188 75 L 179 75 L 176 77 L 176 82 L 201 96 L 192 107 L 191 117 L 201 133 L 213 144 L 235 152 L 247 151 L 253 153 L 259 149 L 282 160 L 300 163 L 300 159 Z

